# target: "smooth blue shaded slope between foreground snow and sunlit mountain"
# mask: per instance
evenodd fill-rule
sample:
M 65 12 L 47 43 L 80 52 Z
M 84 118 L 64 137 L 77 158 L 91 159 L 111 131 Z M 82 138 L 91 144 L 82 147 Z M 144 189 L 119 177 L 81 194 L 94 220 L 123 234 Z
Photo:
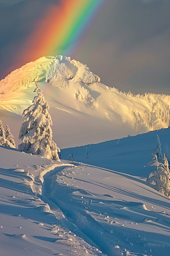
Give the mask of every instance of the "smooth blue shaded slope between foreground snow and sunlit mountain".
M 61 156 L 68 160 L 69 155 L 73 154 L 77 162 L 108 168 L 124 174 L 147 177 L 152 168 L 144 166 L 152 160 L 151 154 L 157 145 L 157 134 L 162 145 L 162 154 L 164 154 L 166 144 L 170 148 L 170 127 L 122 138 L 120 141 L 116 139 L 87 146 L 65 148 L 61 150 Z M 89 158 L 86 158 L 86 148 Z

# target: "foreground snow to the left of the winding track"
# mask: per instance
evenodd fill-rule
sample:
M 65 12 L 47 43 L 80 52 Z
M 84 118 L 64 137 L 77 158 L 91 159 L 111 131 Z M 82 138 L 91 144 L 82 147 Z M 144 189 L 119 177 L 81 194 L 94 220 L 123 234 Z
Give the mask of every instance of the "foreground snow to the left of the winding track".
M 1 255 L 107 256 L 44 195 L 45 174 L 71 164 L 5 147 L 0 153 Z

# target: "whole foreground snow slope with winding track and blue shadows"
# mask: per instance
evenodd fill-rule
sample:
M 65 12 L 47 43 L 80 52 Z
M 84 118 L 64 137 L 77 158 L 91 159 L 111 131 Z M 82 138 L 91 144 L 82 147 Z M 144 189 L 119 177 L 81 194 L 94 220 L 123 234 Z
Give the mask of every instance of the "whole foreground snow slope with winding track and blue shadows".
M 170 201 L 138 170 L 0 154 L 2 256 L 168 255 Z

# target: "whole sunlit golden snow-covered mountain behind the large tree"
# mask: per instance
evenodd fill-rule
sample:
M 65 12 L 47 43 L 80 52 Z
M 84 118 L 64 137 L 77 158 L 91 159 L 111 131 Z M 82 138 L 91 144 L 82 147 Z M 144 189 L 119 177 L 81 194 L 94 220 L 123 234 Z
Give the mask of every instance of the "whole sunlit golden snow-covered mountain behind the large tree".
M 40 82 L 60 148 L 98 143 L 169 126 L 170 96 L 133 95 L 101 84 L 99 76 L 70 57 L 41 57 L 0 81 L 0 109 L 18 144 L 22 112 Z

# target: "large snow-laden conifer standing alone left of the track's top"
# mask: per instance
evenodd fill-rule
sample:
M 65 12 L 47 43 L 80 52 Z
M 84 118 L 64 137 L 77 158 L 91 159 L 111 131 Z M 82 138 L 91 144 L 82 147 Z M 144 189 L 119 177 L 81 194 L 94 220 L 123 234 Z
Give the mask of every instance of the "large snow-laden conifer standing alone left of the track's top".
M 48 113 L 49 105 L 45 102 L 39 84 L 36 83 L 38 96 L 33 99 L 33 104 L 23 111 L 24 122 L 20 128 L 19 139 L 23 141 L 18 146 L 20 151 L 41 155 L 44 158 L 58 160 L 60 151 L 52 141 L 52 118 Z

